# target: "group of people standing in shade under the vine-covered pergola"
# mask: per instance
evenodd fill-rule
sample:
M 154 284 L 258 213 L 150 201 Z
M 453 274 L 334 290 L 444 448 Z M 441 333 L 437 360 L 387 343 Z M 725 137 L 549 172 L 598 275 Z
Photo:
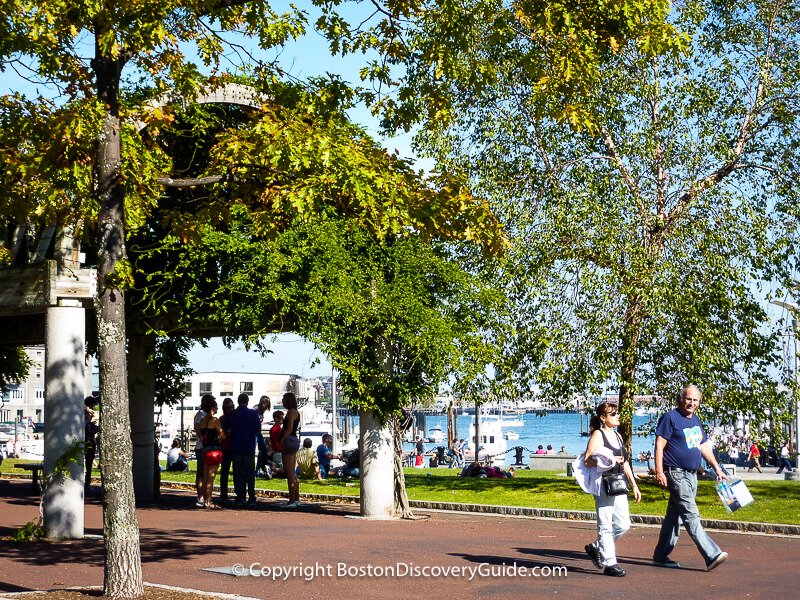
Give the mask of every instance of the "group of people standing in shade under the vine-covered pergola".
M 236 495 L 234 506 L 256 505 L 257 448 L 258 464 L 263 473 L 282 470 L 286 474 L 289 486 L 289 502 L 286 506 L 296 508 L 300 505 L 300 487 L 295 473 L 295 459 L 300 448 L 300 439 L 297 437 L 300 426 L 297 398 L 293 393 L 287 392 L 282 399 L 286 412 L 273 413 L 275 425 L 269 432 L 269 450 L 272 453 L 271 462 L 275 466 L 274 469 L 268 464 L 270 461 L 267 456 L 269 454 L 267 441 L 261 432 L 265 414 L 270 410 L 272 403 L 268 396 L 262 396 L 256 409 L 251 409 L 248 408 L 249 402 L 248 394 L 239 394 L 236 407 L 232 398 L 225 398 L 222 403 L 222 415 L 218 418 L 216 398 L 206 394 L 200 399 L 200 410 L 194 418 L 194 431 L 197 436 L 195 483 L 198 508 L 219 508 L 219 505 L 212 500 L 217 470 L 221 470 L 220 502 L 227 502 L 231 467 Z

